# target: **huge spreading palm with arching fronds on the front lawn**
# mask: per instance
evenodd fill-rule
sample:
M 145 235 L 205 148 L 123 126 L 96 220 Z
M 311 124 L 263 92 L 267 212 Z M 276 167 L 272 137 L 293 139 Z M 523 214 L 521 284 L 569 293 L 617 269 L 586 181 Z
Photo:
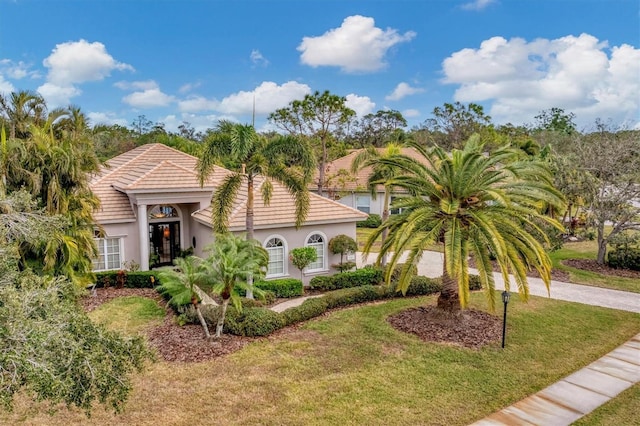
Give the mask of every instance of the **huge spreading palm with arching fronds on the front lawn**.
M 549 288 L 551 261 L 543 245 L 548 239 L 536 223 L 542 221 L 561 229 L 541 209 L 545 203 L 561 206 L 564 201 L 552 185 L 546 163 L 523 160 L 521 152 L 508 147 L 485 154 L 477 135 L 462 150 L 454 149 L 450 154 L 439 146 L 427 151 L 410 145 L 424 161 L 398 155 L 381 162 L 402 172 L 388 184 L 411 195 L 398 201 L 396 206 L 402 212 L 385 221 L 365 245 L 368 252 L 383 230 L 389 230 L 378 258 L 393 252 L 387 280 L 407 251 L 399 284 L 406 291 L 411 267 L 420 260 L 423 249 L 442 241 L 443 287 L 437 305 L 447 312 L 457 312 L 467 305 L 470 255 L 475 258 L 491 309 L 495 309 L 492 256 L 507 290 L 511 273 L 524 300 L 529 295 L 529 269 L 536 269 Z

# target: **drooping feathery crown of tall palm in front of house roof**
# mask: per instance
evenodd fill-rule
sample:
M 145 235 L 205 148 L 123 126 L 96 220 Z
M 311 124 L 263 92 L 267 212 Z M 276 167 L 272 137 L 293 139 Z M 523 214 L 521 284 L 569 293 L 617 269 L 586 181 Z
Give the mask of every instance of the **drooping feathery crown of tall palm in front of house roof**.
M 203 185 L 216 165 L 232 171 L 213 194 L 212 224 L 216 233 L 224 233 L 242 185 L 246 185 L 247 239 L 254 234 L 254 190 L 256 178 L 261 183 L 262 200 L 269 204 L 273 191 L 272 181 L 287 187 L 296 205 L 296 226 L 301 226 L 309 210 L 307 188 L 313 176 L 315 158 L 307 143 L 293 136 L 278 136 L 267 140 L 259 136 L 253 126 L 218 123 L 215 131 L 205 141 L 198 161 L 200 184 Z

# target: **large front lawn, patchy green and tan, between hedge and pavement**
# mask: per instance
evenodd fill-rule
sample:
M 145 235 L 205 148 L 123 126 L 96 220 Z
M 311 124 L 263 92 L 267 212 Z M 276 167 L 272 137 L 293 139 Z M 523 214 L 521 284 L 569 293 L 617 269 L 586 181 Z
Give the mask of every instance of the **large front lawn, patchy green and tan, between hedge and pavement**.
M 386 322 L 434 301 L 396 299 L 336 311 L 224 358 L 156 363 L 135 379 L 120 416 L 96 410 L 87 419 L 61 408 L 50 417 L 21 400 L 13 414 L 0 414 L 0 424 L 465 425 L 584 367 L 640 330 L 637 314 L 535 297 L 510 303 L 505 349 L 499 342 L 482 350 L 425 343 Z M 474 293 L 472 306 L 486 309 L 484 295 Z M 625 410 L 614 406 L 606 415 L 621 412 L 625 419 Z

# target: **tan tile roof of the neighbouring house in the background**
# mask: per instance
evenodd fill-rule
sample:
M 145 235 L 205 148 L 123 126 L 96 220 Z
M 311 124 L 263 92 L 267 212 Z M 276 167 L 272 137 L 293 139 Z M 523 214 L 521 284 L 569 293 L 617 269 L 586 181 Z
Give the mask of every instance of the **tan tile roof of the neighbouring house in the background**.
M 385 148 L 377 148 L 378 152 L 384 151 Z M 344 157 L 337 158 L 330 163 L 327 164 L 325 168 L 325 180 L 328 182 L 324 185 L 329 191 L 366 191 L 367 180 L 369 176 L 371 176 L 372 169 L 371 167 L 364 167 L 360 169 L 357 173 L 351 173 L 351 164 L 353 163 L 354 158 L 360 153 L 364 151 L 364 148 L 357 149 Z M 401 148 L 402 154 L 407 157 L 411 157 L 416 161 L 424 161 L 423 157 L 413 148 Z M 348 178 L 338 178 L 336 174 L 340 172 L 340 170 L 346 171 L 345 176 Z M 315 182 L 318 181 L 318 173 L 316 172 Z M 316 189 L 317 184 L 312 187 L 312 189 Z M 382 191 L 382 188 L 379 189 Z

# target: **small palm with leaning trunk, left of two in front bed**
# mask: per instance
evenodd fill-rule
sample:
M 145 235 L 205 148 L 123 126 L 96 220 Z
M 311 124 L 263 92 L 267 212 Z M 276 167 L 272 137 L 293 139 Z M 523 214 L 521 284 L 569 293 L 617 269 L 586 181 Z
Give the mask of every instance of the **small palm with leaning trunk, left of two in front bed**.
M 202 259 L 196 256 L 186 258 L 178 257 L 174 259 L 174 269 L 163 269 L 158 273 L 162 285 L 158 291 L 170 296 L 169 303 L 183 306 L 191 303 L 198 315 L 200 324 L 204 329 L 207 339 L 211 338 L 207 322 L 200 310 L 200 299 L 198 298 L 197 287 L 208 282 L 206 269 L 203 267 Z

